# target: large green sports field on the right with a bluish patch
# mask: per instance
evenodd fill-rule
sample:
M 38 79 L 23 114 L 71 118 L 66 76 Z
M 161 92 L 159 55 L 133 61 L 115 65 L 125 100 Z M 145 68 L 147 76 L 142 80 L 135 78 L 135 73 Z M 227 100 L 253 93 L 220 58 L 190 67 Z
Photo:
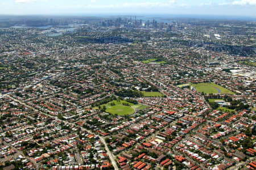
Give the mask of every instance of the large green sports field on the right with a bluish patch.
M 192 84 L 193 87 L 196 88 L 198 92 L 204 92 L 206 94 L 235 94 L 228 89 L 223 88 L 213 82 L 203 82 L 199 84 Z

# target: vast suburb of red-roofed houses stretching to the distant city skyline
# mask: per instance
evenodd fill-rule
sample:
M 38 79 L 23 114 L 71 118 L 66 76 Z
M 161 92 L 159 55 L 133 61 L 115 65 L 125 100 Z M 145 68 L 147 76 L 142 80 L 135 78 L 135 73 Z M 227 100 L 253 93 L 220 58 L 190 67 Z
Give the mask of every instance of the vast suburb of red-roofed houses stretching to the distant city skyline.
M 0 28 L 0 169 L 256 169 L 255 22 L 47 23 Z

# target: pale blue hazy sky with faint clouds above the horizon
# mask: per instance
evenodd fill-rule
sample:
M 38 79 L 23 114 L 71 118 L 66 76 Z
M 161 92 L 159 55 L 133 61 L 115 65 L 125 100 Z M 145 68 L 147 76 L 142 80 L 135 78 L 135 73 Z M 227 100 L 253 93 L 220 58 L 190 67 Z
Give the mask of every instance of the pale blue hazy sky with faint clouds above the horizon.
M 256 0 L 0 0 L 0 14 L 194 14 L 256 18 Z

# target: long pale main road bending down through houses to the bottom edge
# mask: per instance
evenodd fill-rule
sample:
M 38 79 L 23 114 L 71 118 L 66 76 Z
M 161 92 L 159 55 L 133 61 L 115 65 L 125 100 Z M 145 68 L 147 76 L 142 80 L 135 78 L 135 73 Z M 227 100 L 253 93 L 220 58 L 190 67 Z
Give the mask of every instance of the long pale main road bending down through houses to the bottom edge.
M 35 109 L 34 107 L 28 106 L 26 103 L 24 103 L 24 102 L 22 102 L 22 101 L 20 101 L 20 100 L 18 100 L 18 99 L 16 99 L 16 98 L 11 97 L 9 94 L 5 94 L 5 96 L 7 96 L 7 97 L 13 99 L 14 101 L 16 101 L 16 102 L 18 102 L 18 103 L 20 103 L 20 104 L 22 104 L 22 105 L 24 105 L 24 106 L 26 106 L 26 107 L 32 109 L 32 110 L 39 111 L 38 109 Z M 42 111 L 39 111 L 39 112 L 42 113 Z M 45 113 L 42 113 L 42 114 L 45 114 Z M 49 115 L 49 114 L 45 114 L 45 115 L 47 115 L 48 117 L 55 118 L 55 119 L 57 119 L 57 120 L 59 120 L 59 121 L 62 121 L 62 122 L 64 122 L 64 123 L 69 123 L 68 121 L 60 120 L 59 118 L 57 118 L 57 117 L 55 117 L 55 116 L 53 116 L 53 115 Z M 75 123 L 69 123 L 69 124 L 76 126 Z M 81 127 L 81 129 L 84 130 L 84 131 L 89 132 L 90 134 L 94 134 L 93 132 L 91 132 L 91 131 L 89 131 L 89 130 L 86 130 L 85 128 L 82 128 L 82 127 Z M 94 135 L 96 135 L 96 134 L 94 134 Z M 109 147 L 108 147 L 108 145 L 107 145 L 106 142 L 105 142 L 105 139 L 100 136 L 100 140 L 101 140 L 101 142 L 104 143 L 104 145 L 105 145 L 105 148 L 106 148 L 106 151 L 107 151 L 107 155 L 109 156 L 110 161 L 111 161 L 111 163 L 112 163 L 114 169 L 115 169 L 115 170 L 118 170 L 117 163 L 115 162 L 114 156 L 113 156 L 112 152 L 110 152 Z M 34 163 L 34 162 L 32 161 L 32 163 Z M 35 163 L 34 163 L 34 164 L 35 164 Z M 37 166 L 38 164 L 35 164 L 35 165 Z

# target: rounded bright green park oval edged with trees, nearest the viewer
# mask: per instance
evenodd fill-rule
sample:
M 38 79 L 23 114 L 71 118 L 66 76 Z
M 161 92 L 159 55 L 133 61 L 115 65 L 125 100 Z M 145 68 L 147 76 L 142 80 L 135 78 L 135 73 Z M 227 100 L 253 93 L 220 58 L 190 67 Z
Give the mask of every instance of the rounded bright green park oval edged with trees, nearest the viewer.
M 110 103 L 115 103 L 115 105 L 111 105 Z M 128 103 L 130 106 L 124 106 L 122 103 Z M 111 101 L 108 102 L 104 105 L 101 105 L 101 108 L 103 106 L 106 106 L 106 112 L 111 113 L 111 114 L 118 114 L 118 115 L 130 115 L 134 113 L 134 109 L 131 106 L 134 106 L 133 103 L 129 103 L 125 100 L 121 101 Z M 93 107 L 93 109 L 98 109 L 98 107 Z

